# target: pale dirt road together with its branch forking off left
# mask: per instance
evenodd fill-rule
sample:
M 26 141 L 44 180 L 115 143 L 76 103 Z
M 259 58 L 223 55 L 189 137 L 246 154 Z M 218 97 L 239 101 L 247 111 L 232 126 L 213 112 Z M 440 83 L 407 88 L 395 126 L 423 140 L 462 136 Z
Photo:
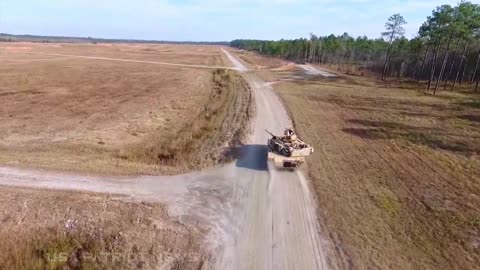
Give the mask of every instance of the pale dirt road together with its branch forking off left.
M 125 194 L 161 201 L 181 222 L 200 221 L 211 228 L 215 269 L 328 269 L 335 263 L 322 237 L 315 205 L 300 171 L 278 171 L 267 164 L 268 129 L 292 126 L 270 86 L 235 57 L 256 103 L 248 145 L 225 166 L 178 176 L 96 178 L 0 167 L 0 184 Z M 327 260 L 327 254 L 329 256 Z M 333 263 L 332 263 L 333 262 Z

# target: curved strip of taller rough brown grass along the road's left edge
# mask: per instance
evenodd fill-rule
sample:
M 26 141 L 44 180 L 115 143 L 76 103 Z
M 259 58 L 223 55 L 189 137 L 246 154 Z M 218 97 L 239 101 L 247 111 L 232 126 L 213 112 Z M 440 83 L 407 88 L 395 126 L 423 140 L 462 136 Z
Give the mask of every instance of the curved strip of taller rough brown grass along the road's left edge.
M 225 157 L 225 143 L 244 135 L 250 93 L 235 72 L 216 70 L 209 103 L 189 123 L 168 134 L 152 134 L 122 151 L 122 159 L 161 164 L 179 172 L 214 165 Z

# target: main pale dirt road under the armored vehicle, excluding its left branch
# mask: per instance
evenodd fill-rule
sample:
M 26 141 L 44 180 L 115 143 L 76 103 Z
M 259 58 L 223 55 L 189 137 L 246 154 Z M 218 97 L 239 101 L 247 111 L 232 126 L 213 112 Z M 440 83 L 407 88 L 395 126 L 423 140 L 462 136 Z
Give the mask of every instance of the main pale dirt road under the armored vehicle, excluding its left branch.
M 246 68 L 224 51 L 237 70 Z M 245 195 L 235 215 L 239 237 L 230 247 L 227 269 L 327 269 L 325 240 L 321 238 L 314 204 L 300 171 L 279 171 L 266 163 L 265 129 L 281 133 L 291 127 L 282 102 L 265 82 L 246 73 L 255 95 L 256 118 L 251 145 L 238 163 L 250 168 Z M 240 169 L 237 169 L 239 171 Z M 228 249 L 227 249 L 228 252 Z M 227 255 L 229 255 L 227 253 Z

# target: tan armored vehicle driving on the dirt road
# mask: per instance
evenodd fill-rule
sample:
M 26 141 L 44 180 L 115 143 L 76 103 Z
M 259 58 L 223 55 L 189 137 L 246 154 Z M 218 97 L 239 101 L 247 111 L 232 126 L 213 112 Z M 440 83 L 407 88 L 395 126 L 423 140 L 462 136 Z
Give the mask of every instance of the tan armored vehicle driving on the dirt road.
M 292 129 L 285 129 L 284 136 L 276 136 L 266 130 L 272 137 L 268 139 L 268 159 L 280 168 L 296 168 L 305 163 L 304 157 L 313 153 L 313 147 L 300 140 Z

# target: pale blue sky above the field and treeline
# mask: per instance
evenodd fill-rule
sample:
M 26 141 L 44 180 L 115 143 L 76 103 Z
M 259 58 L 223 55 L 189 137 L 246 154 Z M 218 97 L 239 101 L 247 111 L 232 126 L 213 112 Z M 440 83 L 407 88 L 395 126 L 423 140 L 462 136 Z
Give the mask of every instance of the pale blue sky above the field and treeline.
M 406 37 L 458 0 L 0 0 L 0 33 L 170 41 L 290 39 L 349 33 L 380 37 L 387 18 Z M 480 0 L 473 0 L 480 4 Z

